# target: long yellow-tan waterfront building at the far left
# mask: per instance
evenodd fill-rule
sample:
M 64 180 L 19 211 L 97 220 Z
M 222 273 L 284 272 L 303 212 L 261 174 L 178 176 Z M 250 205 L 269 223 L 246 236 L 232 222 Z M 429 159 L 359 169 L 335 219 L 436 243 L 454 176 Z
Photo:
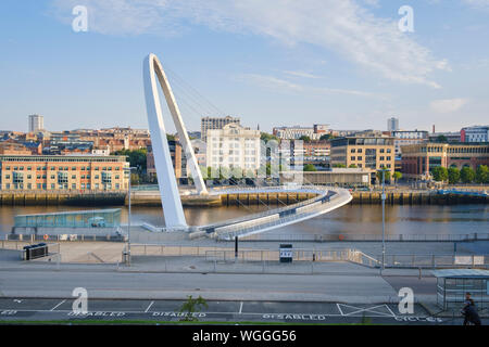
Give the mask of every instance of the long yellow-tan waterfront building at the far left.
M 125 156 L 0 155 L 0 190 L 125 191 Z

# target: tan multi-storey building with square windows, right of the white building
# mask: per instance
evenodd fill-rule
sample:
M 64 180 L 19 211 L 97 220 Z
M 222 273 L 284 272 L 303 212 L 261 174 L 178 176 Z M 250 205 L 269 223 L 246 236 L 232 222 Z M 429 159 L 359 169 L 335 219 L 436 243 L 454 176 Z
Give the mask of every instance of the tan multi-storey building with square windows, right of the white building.
M 349 137 L 330 140 L 330 164 L 394 170 L 394 138 Z

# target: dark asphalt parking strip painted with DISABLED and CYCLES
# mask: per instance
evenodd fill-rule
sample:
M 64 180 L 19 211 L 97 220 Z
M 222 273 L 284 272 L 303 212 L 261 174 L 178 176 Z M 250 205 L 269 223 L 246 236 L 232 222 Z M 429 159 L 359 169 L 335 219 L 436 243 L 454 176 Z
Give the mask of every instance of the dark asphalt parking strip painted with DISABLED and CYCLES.
M 172 321 L 181 320 L 183 300 L 87 300 L 87 311 L 75 298 L 0 298 L 0 321 Z M 74 310 L 75 309 L 75 310 Z M 195 312 L 199 321 L 285 322 L 285 323 L 361 323 L 373 324 L 461 324 L 461 319 L 434 318 L 419 305 L 412 314 L 399 313 L 396 304 L 208 301 Z

